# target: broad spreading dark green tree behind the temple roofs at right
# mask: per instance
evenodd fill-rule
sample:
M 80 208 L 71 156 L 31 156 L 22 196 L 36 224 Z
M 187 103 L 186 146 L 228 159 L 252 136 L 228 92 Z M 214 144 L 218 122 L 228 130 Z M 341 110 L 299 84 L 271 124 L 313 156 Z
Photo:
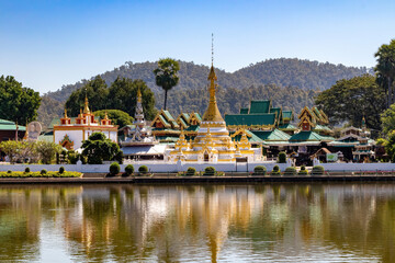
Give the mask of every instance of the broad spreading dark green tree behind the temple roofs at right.
M 365 117 L 366 127 L 381 127 L 380 114 L 385 108 L 385 91 L 370 75 L 339 80 L 318 94 L 315 101 L 328 115 L 331 124 L 349 122 L 360 127 Z

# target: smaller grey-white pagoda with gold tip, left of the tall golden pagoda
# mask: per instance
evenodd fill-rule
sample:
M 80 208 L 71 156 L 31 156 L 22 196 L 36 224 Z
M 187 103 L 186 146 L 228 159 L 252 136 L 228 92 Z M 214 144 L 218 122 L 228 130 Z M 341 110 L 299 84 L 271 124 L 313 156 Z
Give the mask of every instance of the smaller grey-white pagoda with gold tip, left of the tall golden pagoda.
M 143 111 L 143 96 L 138 89 L 135 121 L 132 126 L 124 128 L 125 140 L 121 141 L 124 157 L 151 159 L 162 157 L 166 146 L 158 145 L 159 141 L 151 135 L 150 127 L 146 125 Z

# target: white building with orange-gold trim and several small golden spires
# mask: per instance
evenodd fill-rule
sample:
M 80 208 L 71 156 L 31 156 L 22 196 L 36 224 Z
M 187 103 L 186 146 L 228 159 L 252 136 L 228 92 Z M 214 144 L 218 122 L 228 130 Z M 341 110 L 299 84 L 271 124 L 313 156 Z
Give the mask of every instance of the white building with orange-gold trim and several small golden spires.
M 83 111 L 81 110 L 74 123 L 65 110 L 60 124 L 54 125 L 53 139 L 55 144 L 59 144 L 68 150 L 77 150 L 81 148 L 83 140 L 97 132 L 103 133 L 106 138 L 117 142 L 117 126 L 111 124 L 106 114 L 103 119 L 97 121 L 94 114 L 89 110 L 88 98 L 86 98 Z

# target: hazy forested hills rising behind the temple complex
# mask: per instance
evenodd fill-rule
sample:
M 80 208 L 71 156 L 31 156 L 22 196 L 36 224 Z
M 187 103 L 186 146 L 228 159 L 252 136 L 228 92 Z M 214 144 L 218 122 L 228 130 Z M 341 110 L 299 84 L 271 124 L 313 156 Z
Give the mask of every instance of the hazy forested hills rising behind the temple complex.
M 207 100 L 204 95 L 210 68 L 193 62 L 180 62 L 180 82 L 168 96 L 168 110 L 178 114 L 181 111 L 203 113 Z M 110 84 L 117 76 L 131 79 L 143 79 L 156 95 L 156 105 L 162 107 L 163 92 L 155 84 L 153 70 L 157 62 L 126 62 L 106 71 L 101 77 Z M 346 67 L 329 62 L 301 59 L 269 59 L 250 65 L 233 73 L 216 69 L 218 78 L 218 105 L 223 113 L 236 113 L 240 106 L 247 106 L 251 99 L 273 101 L 274 106 L 284 106 L 298 112 L 303 106 L 311 106 L 317 90 L 330 88 L 340 79 L 349 79 L 371 71 L 364 67 Z M 38 112 L 38 121 L 45 124 L 53 116 L 59 116 L 64 102 L 72 91 L 82 87 L 87 80 L 64 85 L 55 92 L 44 95 Z M 290 88 L 292 87 L 292 88 Z M 131 105 L 132 106 L 132 105 Z

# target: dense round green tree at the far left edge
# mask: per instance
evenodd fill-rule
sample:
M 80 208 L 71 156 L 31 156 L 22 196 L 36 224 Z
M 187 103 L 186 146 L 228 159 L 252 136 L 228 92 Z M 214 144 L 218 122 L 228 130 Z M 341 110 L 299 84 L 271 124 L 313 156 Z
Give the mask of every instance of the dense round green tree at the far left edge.
M 22 87 L 12 76 L 0 77 L 0 118 L 25 124 L 37 117 L 40 93 Z

